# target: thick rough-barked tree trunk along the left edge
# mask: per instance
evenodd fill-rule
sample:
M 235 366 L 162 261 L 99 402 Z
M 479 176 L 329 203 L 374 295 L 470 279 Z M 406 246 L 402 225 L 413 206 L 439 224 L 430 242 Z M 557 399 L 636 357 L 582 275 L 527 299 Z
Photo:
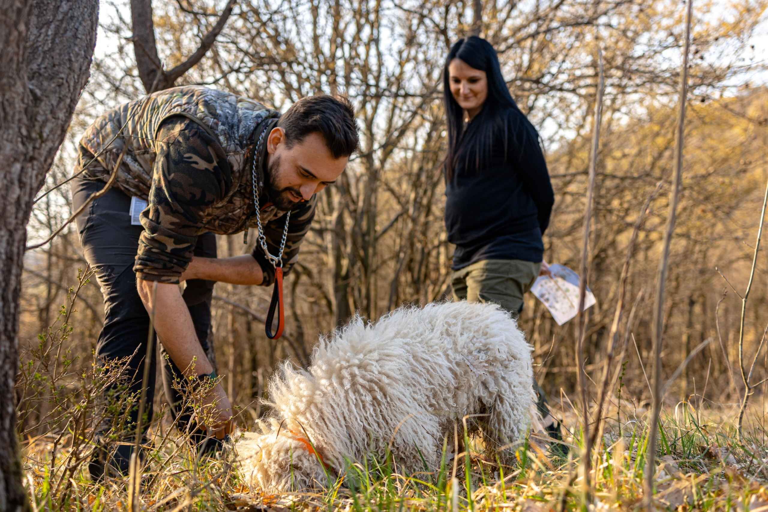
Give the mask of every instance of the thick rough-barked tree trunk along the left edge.
M 0 0 L 0 396 L 13 396 L 26 226 L 88 81 L 98 0 Z M 0 510 L 28 510 L 15 405 L 0 406 Z

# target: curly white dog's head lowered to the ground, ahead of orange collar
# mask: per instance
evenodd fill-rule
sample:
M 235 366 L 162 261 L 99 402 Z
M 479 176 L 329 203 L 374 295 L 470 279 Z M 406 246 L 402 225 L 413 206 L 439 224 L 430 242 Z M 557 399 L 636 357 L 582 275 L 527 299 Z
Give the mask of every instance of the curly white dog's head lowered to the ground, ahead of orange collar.
M 263 434 L 243 433 L 237 436 L 235 447 L 246 483 L 265 493 L 325 486 L 333 474 L 302 430 L 277 428 Z

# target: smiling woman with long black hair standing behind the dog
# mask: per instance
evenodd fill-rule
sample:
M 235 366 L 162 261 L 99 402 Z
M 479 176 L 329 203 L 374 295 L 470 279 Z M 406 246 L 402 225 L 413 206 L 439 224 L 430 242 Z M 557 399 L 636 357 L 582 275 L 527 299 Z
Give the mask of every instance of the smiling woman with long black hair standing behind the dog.
M 445 227 L 456 246 L 453 298 L 495 302 L 517 318 L 525 292 L 548 273 L 541 236 L 554 193 L 538 132 L 509 94 L 485 39 L 472 36 L 452 46 L 443 88 Z M 544 394 L 537 391 L 547 418 Z M 554 421 L 548 430 L 559 438 Z

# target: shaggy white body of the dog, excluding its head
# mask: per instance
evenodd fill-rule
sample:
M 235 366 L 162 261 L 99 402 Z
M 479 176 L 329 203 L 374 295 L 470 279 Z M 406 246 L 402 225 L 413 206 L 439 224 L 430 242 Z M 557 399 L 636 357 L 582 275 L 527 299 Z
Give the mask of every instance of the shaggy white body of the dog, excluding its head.
M 270 396 L 329 459 L 391 448 L 419 465 L 439 457 L 446 431 L 488 413 L 496 444 L 525 434 L 534 403 L 531 346 L 498 306 L 468 302 L 359 317 L 321 339 L 305 371 L 283 367 Z

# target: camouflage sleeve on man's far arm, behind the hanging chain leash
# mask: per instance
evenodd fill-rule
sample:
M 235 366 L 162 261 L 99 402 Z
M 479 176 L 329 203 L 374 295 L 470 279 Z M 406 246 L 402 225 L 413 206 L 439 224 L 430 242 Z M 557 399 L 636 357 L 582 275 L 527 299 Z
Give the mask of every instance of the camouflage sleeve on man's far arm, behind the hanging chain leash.
M 290 222 L 288 223 L 288 234 L 286 235 L 286 248 L 283 250 L 283 276 L 290 273 L 290 269 L 299 260 L 299 246 L 304 239 L 306 232 L 310 230 L 310 224 L 315 218 L 315 207 L 317 206 L 317 195 L 314 195 L 306 203 L 299 203 L 290 213 Z M 266 246 L 270 249 L 270 254 L 280 252 L 280 242 L 283 239 L 283 229 L 285 229 L 285 216 L 280 216 L 264 225 L 264 237 Z M 264 274 L 264 280 L 261 286 L 270 286 L 275 282 L 275 270 L 272 263 L 266 256 L 260 244 L 257 242 L 253 247 L 252 256 L 261 266 Z

